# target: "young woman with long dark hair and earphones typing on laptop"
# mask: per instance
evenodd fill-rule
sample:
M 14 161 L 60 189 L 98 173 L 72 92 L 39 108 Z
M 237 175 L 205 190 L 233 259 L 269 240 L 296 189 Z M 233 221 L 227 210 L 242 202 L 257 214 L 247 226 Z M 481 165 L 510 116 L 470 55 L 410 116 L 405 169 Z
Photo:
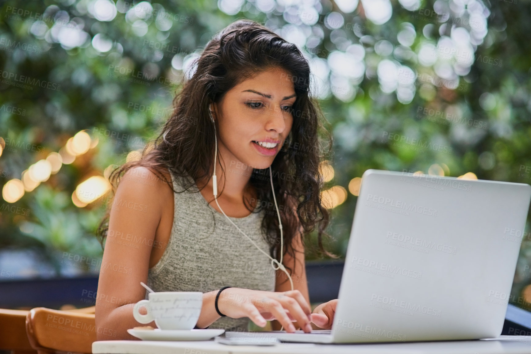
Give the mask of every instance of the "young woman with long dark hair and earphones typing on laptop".
M 306 59 L 263 25 L 238 20 L 193 70 L 151 150 L 110 177 L 98 340 L 134 339 L 126 330 L 139 325 L 141 281 L 203 292 L 196 328 L 246 331 L 249 320 L 277 320 L 273 328 L 288 332 L 330 329 L 336 300 L 311 313 L 304 266 L 303 235 L 315 226 L 327 253 L 318 136 L 330 141 L 309 97 Z

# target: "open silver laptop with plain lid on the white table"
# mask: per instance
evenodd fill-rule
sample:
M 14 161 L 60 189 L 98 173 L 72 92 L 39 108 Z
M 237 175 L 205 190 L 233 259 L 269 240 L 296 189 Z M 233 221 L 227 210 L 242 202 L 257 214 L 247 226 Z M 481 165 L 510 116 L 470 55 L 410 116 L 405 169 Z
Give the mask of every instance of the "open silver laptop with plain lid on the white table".
M 495 338 L 530 200 L 528 184 L 367 170 L 332 329 L 245 335 L 314 343 Z

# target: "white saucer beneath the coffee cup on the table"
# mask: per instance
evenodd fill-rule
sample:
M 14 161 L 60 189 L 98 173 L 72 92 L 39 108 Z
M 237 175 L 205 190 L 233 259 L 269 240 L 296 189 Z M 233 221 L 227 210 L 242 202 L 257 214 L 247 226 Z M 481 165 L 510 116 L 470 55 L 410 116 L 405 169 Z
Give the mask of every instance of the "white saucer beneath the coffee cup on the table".
M 205 341 L 225 332 L 224 329 L 206 330 L 127 330 L 127 333 L 144 341 Z

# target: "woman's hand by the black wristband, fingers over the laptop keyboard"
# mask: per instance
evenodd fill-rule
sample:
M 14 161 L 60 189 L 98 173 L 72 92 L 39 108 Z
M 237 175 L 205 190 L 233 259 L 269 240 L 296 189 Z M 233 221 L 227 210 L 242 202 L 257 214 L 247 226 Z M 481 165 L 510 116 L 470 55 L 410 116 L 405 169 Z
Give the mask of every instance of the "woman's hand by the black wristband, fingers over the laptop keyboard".
M 301 329 L 312 331 L 310 304 L 298 290 L 284 292 L 227 288 L 218 299 L 219 312 L 227 317 L 249 317 L 256 325 L 264 327 L 266 321 L 278 320 L 287 332 L 295 332 L 292 322 Z

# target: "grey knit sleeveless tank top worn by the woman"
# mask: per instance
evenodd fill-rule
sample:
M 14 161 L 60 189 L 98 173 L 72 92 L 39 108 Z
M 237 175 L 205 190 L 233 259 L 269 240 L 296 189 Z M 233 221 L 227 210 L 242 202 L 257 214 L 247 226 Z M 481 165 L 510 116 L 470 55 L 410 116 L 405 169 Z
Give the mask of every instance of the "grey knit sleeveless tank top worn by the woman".
M 171 175 L 175 191 L 183 191 L 185 177 Z M 229 218 L 269 254 L 261 230 L 263 213 Z M 224 286 L 275 291 L 275 271 L 270 258 L 212 208 L 194 183 L 189 191 L 174 193 L 172 231 L 164 254 L 148 271 L 148 286 L 154 291 L 209 292 Z M 249 321 L 221 317 L 209 328 L 247 331 Z

